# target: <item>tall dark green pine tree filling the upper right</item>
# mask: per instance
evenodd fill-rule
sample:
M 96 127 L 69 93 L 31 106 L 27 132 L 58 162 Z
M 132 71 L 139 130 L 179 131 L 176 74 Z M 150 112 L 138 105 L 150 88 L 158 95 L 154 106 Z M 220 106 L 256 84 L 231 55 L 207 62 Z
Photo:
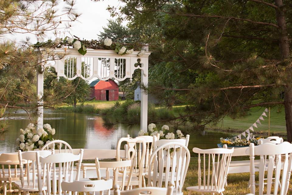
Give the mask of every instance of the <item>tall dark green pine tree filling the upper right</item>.
M 149 90 L 188 103 L 179 117 L 197 128 L 256 106 L 283 105 L 292 141 L 291 1 L 141 2 L 110 8 L 143 30 L 149 43 Z M 280 94 L 284 92 L 284 99 Z

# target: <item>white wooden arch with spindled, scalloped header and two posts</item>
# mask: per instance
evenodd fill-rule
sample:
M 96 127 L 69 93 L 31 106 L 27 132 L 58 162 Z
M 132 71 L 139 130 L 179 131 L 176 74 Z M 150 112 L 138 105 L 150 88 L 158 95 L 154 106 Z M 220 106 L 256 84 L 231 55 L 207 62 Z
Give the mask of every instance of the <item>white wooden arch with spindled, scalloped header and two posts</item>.
M 113 50 L 87 49 L 85 55 L 81 55 L 76 49 L 56 48 L 55 54 L 65 53 L 65 57 L 52 60 L 44 65 L 44 68 L 53 67 L 57 72 L 57 78 L 64 77 L 74 80 L 81 77 L 83 80 L 115 79 L 123 81 L 127 78 L 132 80 L 136 69 L 141 69 L 141 83 L 148 84 L 148 57 L 151 52 L 145 52 L 143 56 L 137 56 L 140 51 L 132 54 L 118 55 Z M 139 62 L 139 63 L 137 63 Z M 37 73 L 37 93 L 39 103 L 43 104 L 43 73 Z M 147 131 L 148 95 L 141 93 L 141 129 Z M 43 127 L 43 107 L 38 108 L 37 128 Z

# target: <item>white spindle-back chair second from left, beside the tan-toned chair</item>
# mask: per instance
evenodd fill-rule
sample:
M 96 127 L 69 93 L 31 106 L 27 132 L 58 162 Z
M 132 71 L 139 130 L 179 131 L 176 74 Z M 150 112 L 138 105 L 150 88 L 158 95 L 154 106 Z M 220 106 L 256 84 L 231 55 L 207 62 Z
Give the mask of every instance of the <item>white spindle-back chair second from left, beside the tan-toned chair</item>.
M 52 151 L 39 151 L 40 156 L 47 157 L 52 154 Z M 20 168 L 20 181 L 16 181 L 15 185 L 24 192 L 37 192 L 39 191 L 37 184 L 37 170 L 36 170 L 36 151 L 18 151 L 19 168 Z M 23 170 L 23 160 L 28 161 L 25 170 Z M 43 186 L 42 191 L 46 191 L 47 186 Z

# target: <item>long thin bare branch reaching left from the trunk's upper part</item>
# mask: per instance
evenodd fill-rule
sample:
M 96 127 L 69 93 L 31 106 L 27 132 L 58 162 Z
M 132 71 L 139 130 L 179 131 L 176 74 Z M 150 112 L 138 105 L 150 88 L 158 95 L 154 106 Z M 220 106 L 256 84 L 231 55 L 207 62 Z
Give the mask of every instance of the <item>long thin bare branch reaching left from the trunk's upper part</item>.
M 146 12 L 146 11 L 157 11 L 157 12 L 164 12 L 164 13 L 167 13 L 167 14 L 173 14 L 173 12 L 166 12 L 164 10 L 159 10 L 159 9 L 148 9 L 148 10 L 142 10 L 142 11 L 144 11 L 144 12 Z M 228 16 L 218 16 L 218 15 L 196 15 L 196 14 L 183 14 L 183 13 L 175 13 L 175 14 L 179 15 L 179 16 L 191 16 L 191 17 L 202 17 L 202 18 L 235 19 L 235 20 L 241 20 L 241 21 L 250 22 L 250 23 L 253 23 L 253 24 L 268 25 L 268 26 L 279 28 L 279 26 L 274 24 L 274 23 L 258 22 L 258 21 L 253 21 L 251 19 L 238 18 L 238 17 L 234 17 L 234 16 L 228 17 Z

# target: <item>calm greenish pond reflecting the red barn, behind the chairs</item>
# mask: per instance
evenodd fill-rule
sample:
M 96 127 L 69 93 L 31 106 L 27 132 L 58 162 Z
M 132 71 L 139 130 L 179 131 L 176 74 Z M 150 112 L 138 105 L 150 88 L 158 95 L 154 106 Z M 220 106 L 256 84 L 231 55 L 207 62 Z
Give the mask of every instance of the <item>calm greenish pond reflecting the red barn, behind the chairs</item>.
M 26 113 L 19 111 L 14 119 L 8 119 L 9 128 L 0 140 L 0 153 L 14 152 L 15 140 L 19 129 L 24 129 L 30 123 Z M 116 124 L 111 128 L 103 126 L 99 115 L 81 114 L 65 110 L 44 110 L 44 124 L 49 123 L 56 129 L 54 139 L 68 142 L 72 148 L 116 149 L 121 137 L 129 134 L 136 137 L 140 126 Z M 203 132 L 190 135 L 189 149 L 215 148 L 220 137 L 228 137 L 226 133 Z M 192 152 L 191 152 L 192 153 Z

